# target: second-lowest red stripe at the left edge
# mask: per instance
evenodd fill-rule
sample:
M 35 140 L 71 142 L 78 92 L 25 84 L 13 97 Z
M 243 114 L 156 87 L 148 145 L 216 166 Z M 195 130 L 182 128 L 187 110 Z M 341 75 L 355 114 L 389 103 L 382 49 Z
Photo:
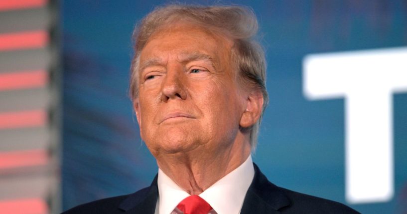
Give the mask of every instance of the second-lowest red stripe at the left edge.
M 0 170 L 18 167 L 44 166 L 47 163 L 48 154 L 45 150 L 28 150 L 0 153 Z

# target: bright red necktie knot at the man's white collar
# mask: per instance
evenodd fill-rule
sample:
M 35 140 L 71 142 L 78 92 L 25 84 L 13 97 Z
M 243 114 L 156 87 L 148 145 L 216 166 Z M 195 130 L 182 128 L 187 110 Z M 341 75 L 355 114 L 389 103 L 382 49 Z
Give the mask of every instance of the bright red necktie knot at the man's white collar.
M 212 207 L 197 195 L 185 198 L 177 208 L 184 214 L 208 214 L 212 210 Z

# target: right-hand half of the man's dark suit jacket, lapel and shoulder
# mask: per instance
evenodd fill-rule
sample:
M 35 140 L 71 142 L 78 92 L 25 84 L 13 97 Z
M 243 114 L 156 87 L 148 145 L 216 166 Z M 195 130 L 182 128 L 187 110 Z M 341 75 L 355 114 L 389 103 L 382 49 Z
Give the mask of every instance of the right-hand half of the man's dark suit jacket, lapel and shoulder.
M 241 214 L 358 214 L 338 202 L 309 196 L 269 182 L 254 164 L 255 177 L 246 194 Z

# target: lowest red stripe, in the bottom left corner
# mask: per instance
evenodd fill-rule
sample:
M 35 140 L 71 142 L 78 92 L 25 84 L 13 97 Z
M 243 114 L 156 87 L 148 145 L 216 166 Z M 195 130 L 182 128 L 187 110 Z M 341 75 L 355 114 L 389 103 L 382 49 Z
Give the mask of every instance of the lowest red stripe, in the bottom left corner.
M 46 214 L 48 206 L 42 199 L 0 201 L 0 214 Z

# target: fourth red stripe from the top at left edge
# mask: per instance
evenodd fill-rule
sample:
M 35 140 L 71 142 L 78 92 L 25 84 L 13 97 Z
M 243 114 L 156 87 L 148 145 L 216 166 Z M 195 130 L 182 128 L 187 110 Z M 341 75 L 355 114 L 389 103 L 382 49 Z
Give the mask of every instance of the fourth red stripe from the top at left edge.
M 46 122 L 47 114 L 44 110 L 0 113 L 0 129 L 43 126 Z

